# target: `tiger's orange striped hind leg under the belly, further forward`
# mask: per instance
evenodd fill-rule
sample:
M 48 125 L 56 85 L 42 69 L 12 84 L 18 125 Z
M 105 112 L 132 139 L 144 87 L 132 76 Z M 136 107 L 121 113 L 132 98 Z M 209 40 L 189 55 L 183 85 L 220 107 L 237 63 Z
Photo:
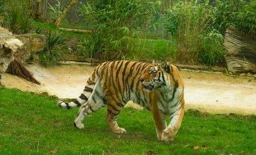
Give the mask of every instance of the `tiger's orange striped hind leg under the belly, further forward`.
M 124 108 L 125 104 L 115 103 L 113 102 L 113 100 L 111 100 L 110 102 L 109 100 L 107 100 L 107 104 L 108 104 L 107 122 L 111 131 L 116 134 L 126 133 L 125 129 L 122 127 L 119 127 L 116 122 L 117 116 L 119 115 L 120 111 Z

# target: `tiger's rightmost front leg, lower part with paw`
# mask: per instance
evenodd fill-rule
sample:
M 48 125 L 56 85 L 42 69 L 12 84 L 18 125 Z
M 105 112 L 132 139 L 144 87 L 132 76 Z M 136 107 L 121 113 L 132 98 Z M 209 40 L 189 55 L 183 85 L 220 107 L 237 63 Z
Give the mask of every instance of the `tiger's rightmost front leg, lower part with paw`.
M 173 141 L 173 138 L 177 134 L 181 122 L 183 119 L 184 115 L 184 108 L 180 108 L 179 110 L 176 110 L 172 115 L 171 115 L 171 121 L 170 124 L 163 130 L 161 140 L 162 141 Z

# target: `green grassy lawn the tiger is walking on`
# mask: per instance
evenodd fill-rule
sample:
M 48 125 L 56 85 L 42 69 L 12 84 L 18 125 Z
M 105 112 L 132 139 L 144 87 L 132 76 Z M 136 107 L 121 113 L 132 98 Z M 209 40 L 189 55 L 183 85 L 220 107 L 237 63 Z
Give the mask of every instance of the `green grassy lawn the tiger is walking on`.
M 187 111 L 173 143 L 156 140 L 149 111 L 126 108 L 118 119 L 128 134 L 111 133 L 106 109 L 73 127 L 77 109 L 56 98 L 0 86 L 0 154 L 253 154 L 256 117 Z

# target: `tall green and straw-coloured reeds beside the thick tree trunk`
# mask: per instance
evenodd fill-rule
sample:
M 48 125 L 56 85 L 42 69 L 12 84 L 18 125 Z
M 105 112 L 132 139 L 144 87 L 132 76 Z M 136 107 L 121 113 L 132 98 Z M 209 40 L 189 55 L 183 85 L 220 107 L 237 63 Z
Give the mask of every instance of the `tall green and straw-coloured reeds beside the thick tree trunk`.
M 165 16 L 166 28 L 176 40 L 172 57 L 185 64 L 222 65 L 226 29 L 255 32 L 255 1 L 179 1 Z

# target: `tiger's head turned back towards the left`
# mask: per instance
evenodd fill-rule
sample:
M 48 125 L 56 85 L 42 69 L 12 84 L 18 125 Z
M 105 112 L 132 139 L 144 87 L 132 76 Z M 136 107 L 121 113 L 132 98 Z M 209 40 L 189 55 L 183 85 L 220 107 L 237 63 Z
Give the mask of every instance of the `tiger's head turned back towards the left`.
M 170 72 L 171 67 L 167 62 L 156 63 L 153 61 L 141 76 L 140 82 L 144 89 L 148 91 L 163 88 L 169 83 Z

